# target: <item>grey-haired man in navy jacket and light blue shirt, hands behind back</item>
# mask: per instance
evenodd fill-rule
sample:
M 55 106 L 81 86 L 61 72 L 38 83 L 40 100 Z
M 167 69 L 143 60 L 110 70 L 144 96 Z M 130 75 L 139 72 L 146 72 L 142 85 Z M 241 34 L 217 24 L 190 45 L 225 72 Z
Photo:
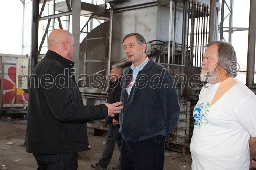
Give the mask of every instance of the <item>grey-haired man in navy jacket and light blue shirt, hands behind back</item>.
M 121 169 L 160 170 L 165 140 L 180 114 L 177 89 L 168 70 L 146 56 L 143 36 L 126 35 L 123 48 L 132 65 L 121 82 Z

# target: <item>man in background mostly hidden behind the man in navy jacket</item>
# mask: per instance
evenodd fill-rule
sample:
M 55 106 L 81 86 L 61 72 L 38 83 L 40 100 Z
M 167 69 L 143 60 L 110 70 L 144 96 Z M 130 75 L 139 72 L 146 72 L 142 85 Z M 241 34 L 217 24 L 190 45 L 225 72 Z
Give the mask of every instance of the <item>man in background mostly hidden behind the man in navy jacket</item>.
M 123 69 L 121 67 L 114 67 L 110 72 L 110 81 L 112 82 L 109 86 L 109 95 L 106 102 L 115 103 L 120 101 L 121 96 L 121 78 L 123 76 Z M 106 145 L 103 151 L 102 157 L 98 163 L 92 164 L 92 169 L 106 169 L 112 158 L 115 144 L 117 143 L 120 150 L 121 146 L 121 134 L 119 130 L 119 114 L 115 114 L 114 117 L 107 116 L 106 123 L 109 124 L 108 135 L 106 135 Z M 113 170 L 121 169 L 120 164 L 112 167 Z

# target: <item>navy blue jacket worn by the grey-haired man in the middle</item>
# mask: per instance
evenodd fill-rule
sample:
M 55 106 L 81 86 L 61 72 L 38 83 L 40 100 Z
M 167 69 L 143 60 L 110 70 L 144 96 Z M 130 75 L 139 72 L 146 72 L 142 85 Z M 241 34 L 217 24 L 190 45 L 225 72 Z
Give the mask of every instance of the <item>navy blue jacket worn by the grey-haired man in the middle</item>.
M 119 117 L 120 129 L 126 142 L 136 142 L 164 130 L 171 133 L 178 122 L 180 104 L 172 75 L 152 59 L 139 71 L 130 95 L 126 91 L 132 69 L 124 72 L 121 86 L 123 112 Z

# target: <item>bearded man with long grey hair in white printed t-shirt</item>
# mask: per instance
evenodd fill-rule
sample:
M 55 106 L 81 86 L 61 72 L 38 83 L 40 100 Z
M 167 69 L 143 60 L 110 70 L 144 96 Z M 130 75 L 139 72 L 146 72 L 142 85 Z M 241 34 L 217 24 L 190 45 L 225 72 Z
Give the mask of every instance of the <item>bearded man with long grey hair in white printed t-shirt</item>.
M 256 162 L 256 95 L 235 79 L 236 52 L 214 41 L 204 47 L 202 88 L 194 108 L 192 169 L 249 169 Z

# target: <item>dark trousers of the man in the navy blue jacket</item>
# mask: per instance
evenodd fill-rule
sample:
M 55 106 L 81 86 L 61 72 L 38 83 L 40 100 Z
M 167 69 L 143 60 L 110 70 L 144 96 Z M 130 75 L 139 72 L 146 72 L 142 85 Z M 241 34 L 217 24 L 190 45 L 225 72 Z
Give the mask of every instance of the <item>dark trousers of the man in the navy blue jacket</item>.
M 138 142 L 122 139 L 122 170 L 161 170 L 164 164 L 165 136 L 153 136 Z

